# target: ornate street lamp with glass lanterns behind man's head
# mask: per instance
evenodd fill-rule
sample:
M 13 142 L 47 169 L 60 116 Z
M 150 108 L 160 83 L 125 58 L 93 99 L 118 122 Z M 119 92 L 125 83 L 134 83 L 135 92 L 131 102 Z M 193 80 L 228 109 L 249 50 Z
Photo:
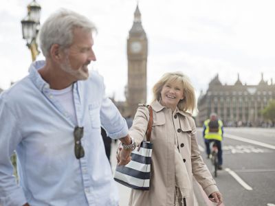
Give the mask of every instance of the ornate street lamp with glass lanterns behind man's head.
M 39 55 L 36 37 L 40 27 L 40 12 L 41 6 L 33 0 L 28 5 L 28 15 L 21 21 L 23 38 L 27 41 L 27 46 L 32 53 L 32 61 L 36 60 L 36 56 Z

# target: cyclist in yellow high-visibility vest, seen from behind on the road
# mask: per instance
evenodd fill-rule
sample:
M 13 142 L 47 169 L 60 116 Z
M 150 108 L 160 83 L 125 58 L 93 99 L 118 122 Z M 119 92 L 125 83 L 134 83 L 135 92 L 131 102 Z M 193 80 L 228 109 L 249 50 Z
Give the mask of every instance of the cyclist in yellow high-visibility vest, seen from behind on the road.
M 214 141 L 218 147 L 218 169 L 223 167 L 223 150 L 221 148 L 221 141 L 223 140 L 223 122 L 218 119 L 216 113 L 210 115 L 210 119 L 206 119 L 203 124 L 203 137 L 206 144 L 206 154 L 210 156 L 210 142 Z

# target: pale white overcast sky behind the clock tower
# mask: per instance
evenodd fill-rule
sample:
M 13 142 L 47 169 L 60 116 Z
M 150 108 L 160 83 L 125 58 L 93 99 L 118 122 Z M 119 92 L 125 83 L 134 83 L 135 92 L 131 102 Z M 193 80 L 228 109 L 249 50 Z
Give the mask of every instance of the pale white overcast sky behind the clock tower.
M 1 0 L 0 88 L 8 89 L 28 75 L 32 62 L 22 38 L 21 20 L 31 0 Z M 58 8 L 87 16 L 98 27 L 94 38 L 97 61 L 89 69 L 104 76 L 106 92 L 124 100 L 127 84 L 126 39 L 133 25 L 135 0 L 36 0 L 41 24 Z M 147 100 L 151 88 L 168 71 L 182 71 L 197 95 L 219 74 L 223 84 L 240 80 L 275 83 L 275 1 L 140 0 L 148 38 Z M 39 60 L 44 59 L 40 54 Z

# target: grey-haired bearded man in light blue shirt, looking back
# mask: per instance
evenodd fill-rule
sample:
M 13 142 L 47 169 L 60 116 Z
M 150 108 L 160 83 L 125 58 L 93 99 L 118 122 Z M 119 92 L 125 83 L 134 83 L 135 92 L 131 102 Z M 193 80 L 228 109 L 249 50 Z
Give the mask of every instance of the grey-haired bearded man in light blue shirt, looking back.
M 0 205 L 118 205 L 100 126 L 122 141 L 120 165 L 135 147 L 124 118 L 104 95 L 96 60 L 94 24 L 60 10 L 43 24 L 45 61 L 0 96 Z M 126 150 L 128 149 L 128 150 Z M 12 176 L 16 150 L 20 184 Z

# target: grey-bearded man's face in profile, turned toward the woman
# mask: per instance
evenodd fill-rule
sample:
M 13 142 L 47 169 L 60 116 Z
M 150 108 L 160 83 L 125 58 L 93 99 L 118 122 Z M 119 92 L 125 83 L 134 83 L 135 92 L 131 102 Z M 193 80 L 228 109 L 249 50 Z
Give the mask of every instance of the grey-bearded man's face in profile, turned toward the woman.
M 96 60 L 92 49 L 94 40 L 91 32 L 80 28 L 74 29 L 74 39 L 69 49 L 65 50 L 65 58 L 61 62 L 61 69 L 67 72 L 74 80 L 87 80 L 89 77 L 88 65 Z

